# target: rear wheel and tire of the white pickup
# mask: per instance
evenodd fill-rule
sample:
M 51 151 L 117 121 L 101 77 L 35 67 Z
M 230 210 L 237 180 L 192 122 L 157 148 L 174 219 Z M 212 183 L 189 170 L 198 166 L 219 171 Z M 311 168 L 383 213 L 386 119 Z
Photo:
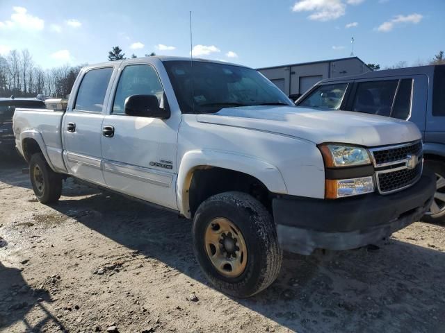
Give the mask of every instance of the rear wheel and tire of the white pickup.
M 35 196 L 41 203 L 55 203 L 62 194 L 62 176 L 49 167 L 42 153 L 31 156 L 29 176 Z

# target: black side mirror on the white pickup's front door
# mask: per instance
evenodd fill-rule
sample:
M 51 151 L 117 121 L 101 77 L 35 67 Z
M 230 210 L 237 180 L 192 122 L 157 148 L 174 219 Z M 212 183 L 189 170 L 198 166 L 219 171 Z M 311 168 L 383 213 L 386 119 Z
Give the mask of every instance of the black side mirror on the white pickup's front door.
M 125 114 L 134 117 L 170 118 L 170 108 L 163 94 L 161 105 L 155 95 L 131 95 L 125 99 Z

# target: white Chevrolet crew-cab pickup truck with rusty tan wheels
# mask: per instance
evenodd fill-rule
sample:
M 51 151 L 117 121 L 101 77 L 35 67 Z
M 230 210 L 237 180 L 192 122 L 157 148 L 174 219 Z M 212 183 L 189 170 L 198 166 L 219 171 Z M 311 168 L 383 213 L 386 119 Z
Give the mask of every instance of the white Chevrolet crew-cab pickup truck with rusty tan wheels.
M 297 108 L 254 69 L 146 57 L 81 70 L 67 109 L 17 109 L 17 149 L 42 203 L 70 176 L 193 219 L 220 290 L 248 297 L 282 250 L 345 250 L 417 221 L 435 178 L 413 123 Z

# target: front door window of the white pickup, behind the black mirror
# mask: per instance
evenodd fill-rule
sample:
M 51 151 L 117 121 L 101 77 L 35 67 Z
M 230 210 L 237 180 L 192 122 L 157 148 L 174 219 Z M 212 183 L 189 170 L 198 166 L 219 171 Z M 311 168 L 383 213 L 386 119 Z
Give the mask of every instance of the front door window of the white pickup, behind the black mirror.
M 113 103 L 113 114 L 124 114 L 125 99 L 131 95 L 156 95 L 159 103 L 163 89 L 158 74 L 149 65 L 131 65 L 124 68 L 119 79 Z

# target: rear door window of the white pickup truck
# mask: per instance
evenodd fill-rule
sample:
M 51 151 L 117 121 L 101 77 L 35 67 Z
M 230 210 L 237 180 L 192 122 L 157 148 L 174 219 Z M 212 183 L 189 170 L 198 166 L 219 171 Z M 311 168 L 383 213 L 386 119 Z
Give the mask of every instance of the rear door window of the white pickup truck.
M 113 67 L 92 69 L 83 76 L 77 92 L 74 109 L 90 112 L 102 112 L 105 93 L 110 82 Z

